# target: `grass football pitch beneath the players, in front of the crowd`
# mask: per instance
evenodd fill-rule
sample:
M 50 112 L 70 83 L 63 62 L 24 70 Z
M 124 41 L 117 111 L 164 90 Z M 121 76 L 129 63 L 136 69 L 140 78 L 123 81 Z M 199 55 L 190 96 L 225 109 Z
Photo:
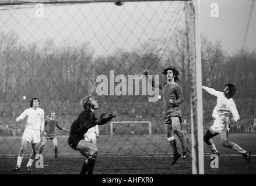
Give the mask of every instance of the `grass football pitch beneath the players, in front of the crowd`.
M 190 138 L 190 136 L 189 136 Z M 213 138 L 222 155 L 219 168 L 210 166 L 211 151 L 204 146 L 205 174 L 256 174 L 256 134 L 230 134 L 230 141 L 239 144 L 246 151 L 251 151 L 251 163 L 239 153 L 220 144 L 219 136 Z M 58 149 L 61 159 L 54 159 L 54 147 L 49 140 L 45 145 L 44 168 L 32 166 L 32 172 L 26 170 L 26 163 L 31 153 L 30 144 L 24 152 L 19 172 L 13 172 L 19 152 L 20 137 L 0 138 L 0 174 L 79 174 L 83 156 L 68 146 L 68 136 L 58 137 Z M 178 141 L 178 140 L 177 140 Z M 178 150 L 181 152 L 180 143 Z M 191 141 L 189 148 L 191 149 Z M 101 135 L 97 141 L 99 153 L 94 167 L 94 174 L 191 174 L 191 157 L 179 159 L 171 166 L 171 148 L 166 135 Z

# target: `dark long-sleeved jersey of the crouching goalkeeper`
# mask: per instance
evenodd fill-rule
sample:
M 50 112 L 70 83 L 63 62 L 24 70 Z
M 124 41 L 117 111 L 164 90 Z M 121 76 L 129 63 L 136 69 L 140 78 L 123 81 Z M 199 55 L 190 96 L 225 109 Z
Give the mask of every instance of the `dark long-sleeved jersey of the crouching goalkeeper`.
M 92 128 L 94 126 L 103 125 L 108 122 L 107 118 L 103 118 L 101 120 L 101 123 L 97 121 L 97 118 L 94 116 L 94 113 L 92 111 L 83 110 L 83 112 L 80 113 L 78 116 L 78 119 L 76 119 L 71 126 L 69 138 L 79 138 L 83 139 L 85 138 L 85 133 L 89 130 L 89 128 Z

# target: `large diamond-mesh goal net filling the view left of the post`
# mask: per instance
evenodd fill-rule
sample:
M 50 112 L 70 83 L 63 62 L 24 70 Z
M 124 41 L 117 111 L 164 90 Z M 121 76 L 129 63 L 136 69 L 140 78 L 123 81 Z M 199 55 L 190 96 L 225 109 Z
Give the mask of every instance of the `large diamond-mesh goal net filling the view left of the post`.
M 59 126 L 69 130 L 82 111 L 80 100 L 92 94 L 99 102 L 96 117 L 117 112 L 110 124 L 99 126 L 103 163 L 97 164 L 96 174 L 173 173 L 162 90 L 145 84 L 143 71 L 148 69 L 155 81 L 159 75 L 159 82 L 166 80 L 166 67 L 180 71 L 182 120 L 190 124 L 193 13 L 188 1 L 138 0 L 117 6 L 108 0 L 0 0 L 0 124 L 15 131 L 15 137 L 0 131 L 0 164 L 5 165 L 0 172 L 15 166 L 26 126 L 16 117 L 30 108 L 31 98 L 40 99 L 45 119 L 54 110 Z M 62 163 L 52 159 L 48 141 L 44 164 L 55 173 L 79 173 L 82 155 L 67 144 L 69 133 L 55 131 Z M 24 162 L 29 154 L 27 146 Z

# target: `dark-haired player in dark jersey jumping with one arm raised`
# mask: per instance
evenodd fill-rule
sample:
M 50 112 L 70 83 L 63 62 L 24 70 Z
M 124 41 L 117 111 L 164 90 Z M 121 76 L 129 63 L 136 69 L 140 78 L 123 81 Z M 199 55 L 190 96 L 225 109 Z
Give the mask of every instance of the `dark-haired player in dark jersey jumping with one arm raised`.
M 148 77 L 148 70 L 144 70 L 144 74 Z M 158 83 L 152 80 L 152 86 L 159 88 L 163 91 L 163 123 L 167 131 L 167 138 L 173 149 L 173 162 L 174 164 L 181 157 L 178 153 L 176 140 L 174 134 L 177 135 L 181 142 L 181 148 L 183 151 L 183 159 L 188 158 L 190 151 L 187 148 L 187 140 L 185 135 L 181 131 L 181 109 L 180 104 L 183 103 L 183 91 L 181 86 L 177 83 L 178 75 L 180 74 L 177 69 L 168 67 L 163 70 L 163 74 L 166 76 L 166 80 L 163 83 Z

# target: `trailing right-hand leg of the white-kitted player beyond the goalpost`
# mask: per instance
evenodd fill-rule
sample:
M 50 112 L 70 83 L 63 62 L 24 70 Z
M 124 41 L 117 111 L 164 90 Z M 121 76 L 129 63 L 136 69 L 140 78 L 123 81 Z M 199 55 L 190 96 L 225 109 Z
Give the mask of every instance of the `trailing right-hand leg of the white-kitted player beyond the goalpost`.
M 251 152 L 245 151 L 236 143 L 229 141 L 227 138 L 229 137 L 229 131 L 225 128 L 224 130 L 220 131 L 220 140 L 222 141 L 222 145 L 226 148 L 233 149 L 234 151 L 239 152 L 241 155 L 244 156 L 247 163 L 251 161 Z

